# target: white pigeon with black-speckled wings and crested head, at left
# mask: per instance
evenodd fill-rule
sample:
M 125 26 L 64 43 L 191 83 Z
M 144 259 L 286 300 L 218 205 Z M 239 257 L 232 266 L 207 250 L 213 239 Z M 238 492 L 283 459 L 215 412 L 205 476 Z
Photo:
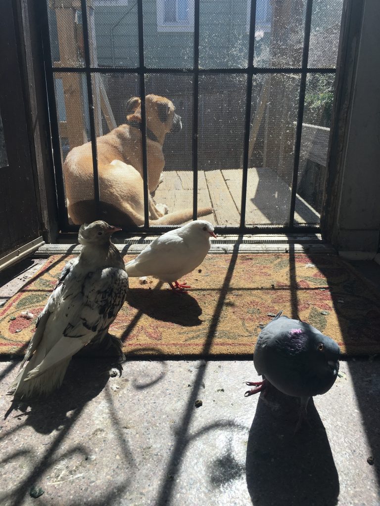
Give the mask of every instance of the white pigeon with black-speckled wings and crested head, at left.
M 128 291 L 123 258 L 110 240 L 118 230 L 104 221 L 79 229 L 81 254 L 67 262 L 37 319 L 20 372 L 10 388 L 15 397 L 48 394 L 59 387 L 72 355 L 94 338 L 102 341 L 107 335 Z M 120 340 L 109 339 L 121 352 Z

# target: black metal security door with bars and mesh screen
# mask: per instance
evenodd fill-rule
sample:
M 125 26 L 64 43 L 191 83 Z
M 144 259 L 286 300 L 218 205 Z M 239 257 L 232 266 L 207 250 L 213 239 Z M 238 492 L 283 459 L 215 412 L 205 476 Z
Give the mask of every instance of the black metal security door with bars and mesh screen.
M 171 149 L 165 141 L 164 181 L 153 192 L 158 203 L 175 201 L 169 212 L 188 203 L 196 219 L 208 203 L 206 219 L 224 233 L 318 231 L 342 2 L 235 4 L 48 0 L 43 37 L 62 231 L 78 229 L 67 202 L 73 191 L 84 193 L 64 180 L 67 154 L 91 143 L 86 205 L 94 204 L 94 219 L 103 217 L 97 145 L 125 122 L 123 107 L 134 95 L 141 101 L 143 223 L 126 229 L 181 224 L 152 223 L 148 92 L 179 102 L 184 125 Z

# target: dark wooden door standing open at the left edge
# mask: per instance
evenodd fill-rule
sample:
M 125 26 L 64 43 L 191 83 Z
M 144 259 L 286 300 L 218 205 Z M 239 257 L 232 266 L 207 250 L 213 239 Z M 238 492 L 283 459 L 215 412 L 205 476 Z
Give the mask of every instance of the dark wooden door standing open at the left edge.
M 42 243 L 15 4 L 0 2 L 0 269 Z

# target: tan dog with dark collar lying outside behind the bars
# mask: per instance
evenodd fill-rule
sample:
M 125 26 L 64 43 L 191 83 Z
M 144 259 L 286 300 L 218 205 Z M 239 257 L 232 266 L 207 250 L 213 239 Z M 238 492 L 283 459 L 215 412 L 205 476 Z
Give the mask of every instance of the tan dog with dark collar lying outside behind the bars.
M 167 207 L 157 205 L 151 197 L 160 184 L 165 166 L 162 150 L 165 136 L 182 128 L 181 118 L 174 110 L 173 103 L 165 97 L 145 97 L 149 225 L 180 225 L 193 218 L 192 209 L 165 215 Z M 68 153 L 63 176 L 72 223 L 79 225 L 102 219 L 124 226 L 144 224 L 140 129 L 141 101 L 135 97 L 127 102 L 127 124 L 97 138 L 100 216 L 94 202 L 91 143 L 75 147 Z M 210 207 L 198 211 L 199 216 L 210 213 Z

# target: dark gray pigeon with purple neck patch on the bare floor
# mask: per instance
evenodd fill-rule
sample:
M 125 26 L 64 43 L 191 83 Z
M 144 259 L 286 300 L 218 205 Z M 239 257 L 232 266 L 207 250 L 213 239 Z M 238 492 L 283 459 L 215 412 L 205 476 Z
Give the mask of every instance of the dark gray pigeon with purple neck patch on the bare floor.
M 298 429 L 310 397 L 325 394 L 333 386 L 340 349 L 312 325 L 281 315 L 282 311 L 259 333 L 253 363 L 263 381 L 247 382 L 255 388 L 245 395 L 260 392 L 269 382 L 283 394 L 299 397 Z

